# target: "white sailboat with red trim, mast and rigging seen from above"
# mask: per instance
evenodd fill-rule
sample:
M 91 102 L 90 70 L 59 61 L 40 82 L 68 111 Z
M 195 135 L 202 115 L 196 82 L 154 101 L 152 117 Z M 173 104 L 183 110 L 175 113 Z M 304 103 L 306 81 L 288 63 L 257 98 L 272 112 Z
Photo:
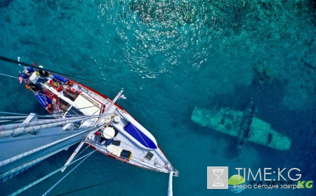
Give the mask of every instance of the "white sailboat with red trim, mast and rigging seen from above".
M 20 120 L 18 124 L 0 126 L 0 148 L 4 143 L 10 143 L 12 148 L 12 152 L 0 155 L 1 182 L 80 140 L 61 171 L 65 171 L 86 144 L 117 161 L 169 173 L 171 182 L 172 176 L 178 176 L 152 133 L 116 103 L 126 99 L 123 90 L 110 100 L 74 79 L 44 70 L 41 65 L 24 65 L 27 67 L 20 73 L 20 83 L 34 94 L 53 119 L 40 119 L 34 113 L 27 117 L 0 117 L 3 122 Z M 20 148 L 25 142 L 27 148 Z

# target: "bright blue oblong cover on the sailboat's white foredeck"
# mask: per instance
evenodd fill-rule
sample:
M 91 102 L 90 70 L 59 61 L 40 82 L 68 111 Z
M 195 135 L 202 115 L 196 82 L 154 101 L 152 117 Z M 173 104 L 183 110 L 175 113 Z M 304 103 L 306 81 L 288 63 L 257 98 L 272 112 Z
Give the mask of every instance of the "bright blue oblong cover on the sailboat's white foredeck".
M 129 122 L 124 126 L 124 130 L 135 138 L 139 143 L 143 144 L 147 148 L 156 149 L 157 146 L 154 142 L 148 138 L 142 131 Z

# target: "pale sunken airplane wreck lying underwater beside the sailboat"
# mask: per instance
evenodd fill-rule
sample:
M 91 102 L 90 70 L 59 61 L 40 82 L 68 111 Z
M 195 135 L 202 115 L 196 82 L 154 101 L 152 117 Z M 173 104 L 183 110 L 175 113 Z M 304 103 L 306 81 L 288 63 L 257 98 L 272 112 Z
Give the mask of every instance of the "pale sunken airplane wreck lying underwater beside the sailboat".
M 267 122 L 254 117 L 255 107 L 252 100 L 244 112 L 229 107 L 222 107 L 219 111 L 195 107 L 191 119 L 201 126 L 237 137 L 239 148 L 249 141 L 277 150 L 290 150 L 291 139 L 271 129 Z

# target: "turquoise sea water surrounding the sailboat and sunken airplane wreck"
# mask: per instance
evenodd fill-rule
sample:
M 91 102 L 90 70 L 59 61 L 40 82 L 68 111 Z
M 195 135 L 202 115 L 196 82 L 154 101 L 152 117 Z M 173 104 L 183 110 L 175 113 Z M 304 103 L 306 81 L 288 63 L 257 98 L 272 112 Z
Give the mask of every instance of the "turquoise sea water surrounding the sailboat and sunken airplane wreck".
M 119 104 L 151 131 L 180 172 L 174 194 L 231 195 L 206 189 L 206 166 L 229 166 L 230 172 L 297 167 L 305 180 L 316 181 L 315 11 L 313 1 L 298 0 L 0 1 L 0 54 L 112 86 L 83 82 L 110 98 L 124 88 L 128 99 Z M 1 63 L 1 73 L 18 76 L 18 70 Z M 1 76 L 0 84 L 0 111 L 45 113 L 18 79 Z M 244 110 L 251 97 L 256 116 L 291 138 L 289 152 L 251 143 L 237 152 L 236 138 L 190 119 L 195 106 Z M 73 150 L 1 184 L 0 195 L 58 169 Z M 56 174 L 22 195 L 41 195 L 60 178 Z M 97 183 L 103 184 L 78 190 Z M 167 185 L 166 174 L 94 153 L 49 194 L 166 195 Z

